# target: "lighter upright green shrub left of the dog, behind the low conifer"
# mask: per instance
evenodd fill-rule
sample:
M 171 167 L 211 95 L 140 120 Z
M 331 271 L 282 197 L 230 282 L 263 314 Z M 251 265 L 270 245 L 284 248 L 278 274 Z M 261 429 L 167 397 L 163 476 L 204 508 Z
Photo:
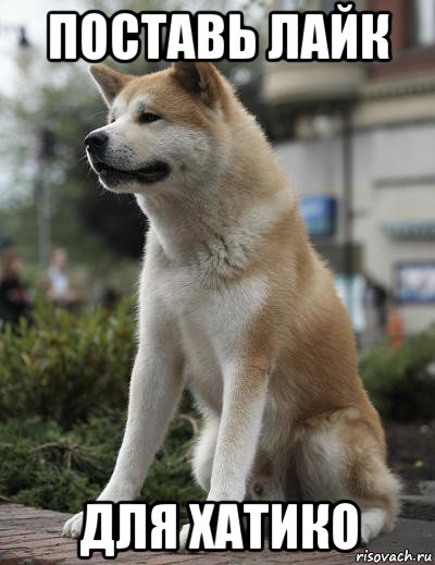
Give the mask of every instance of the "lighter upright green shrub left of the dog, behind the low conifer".
M 0 331 L 0 420 L 38 416 L 69 428 L 124 408 L 134 318 L 127 303 L 77 316 L 41 302 L 33 323 Z

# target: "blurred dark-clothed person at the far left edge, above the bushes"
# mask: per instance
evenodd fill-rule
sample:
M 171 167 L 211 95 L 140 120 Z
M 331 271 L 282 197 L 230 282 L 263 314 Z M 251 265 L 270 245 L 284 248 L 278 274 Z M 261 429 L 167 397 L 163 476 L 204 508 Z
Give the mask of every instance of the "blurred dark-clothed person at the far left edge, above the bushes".
M 26 286 L 22 282 L 24 263 L 17 251 L 4 251 L 0 268 L 0 319 L 16 324 L 28 318 L 30 303 Z

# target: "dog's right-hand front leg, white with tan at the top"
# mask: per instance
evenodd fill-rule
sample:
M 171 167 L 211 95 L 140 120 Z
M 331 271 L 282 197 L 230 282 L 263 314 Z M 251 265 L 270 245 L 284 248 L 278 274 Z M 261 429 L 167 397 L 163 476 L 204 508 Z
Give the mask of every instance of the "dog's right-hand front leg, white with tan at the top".
M 221 425 L 211 476 L 209 501 L 237 501 L 257 452 L 269 384 L 269 363 L 231 364 L 224 371 Z

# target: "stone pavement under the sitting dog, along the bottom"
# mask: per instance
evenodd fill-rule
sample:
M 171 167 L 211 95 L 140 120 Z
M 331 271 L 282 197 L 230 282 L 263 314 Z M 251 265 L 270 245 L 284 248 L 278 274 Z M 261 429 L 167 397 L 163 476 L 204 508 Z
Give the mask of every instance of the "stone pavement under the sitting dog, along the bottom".
M 84 563 L 77 557 L 77 542 L 61 538 L 62 525 L 66 514 L 40 511 L 17 504 L 0 504 L 0 565 L 70 565 Z M 435 523 L 400 519 L 393 533 L 375 540 L 370 551 L 400 552 L 408 549 L 411 553 L 433 553 L 435 563 Z M 364 553 L 365 550 L 360 550 Z M 110 563 L 100 555 L 90 560 L 94 563 Z M 224 565 L 224 564 L 315 564 L 339 565 L 356 563 L 356 553 L 337 552 L 271 552 L 261 553 L 120 553 L 116 563 L 170 565 Z M 360 561 L 360 563 L 363 563 Z M 373 562 L 372 562 L 373 563 Z

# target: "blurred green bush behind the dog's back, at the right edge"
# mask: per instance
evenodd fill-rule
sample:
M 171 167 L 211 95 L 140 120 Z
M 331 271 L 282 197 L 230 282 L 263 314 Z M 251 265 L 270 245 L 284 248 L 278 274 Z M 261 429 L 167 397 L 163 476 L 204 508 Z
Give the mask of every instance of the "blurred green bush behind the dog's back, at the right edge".
M 435 327 L 410 337 L 399 352 L 374 347 L 361 359 L 361 374 L 380 413 L 397 420 L 435 417 Z

